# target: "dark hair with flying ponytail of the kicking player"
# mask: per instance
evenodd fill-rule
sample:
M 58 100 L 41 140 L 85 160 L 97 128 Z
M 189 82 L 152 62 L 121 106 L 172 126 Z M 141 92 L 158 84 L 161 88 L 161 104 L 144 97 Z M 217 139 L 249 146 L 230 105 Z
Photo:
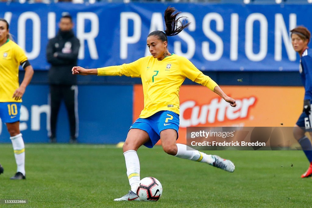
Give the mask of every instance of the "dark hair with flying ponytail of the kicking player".
M 176 12 L 176 11 L 177 10 L 174 7 L 168 7 L 163 14 L 163 17 L 165 19 L 166 30 L 165 31 L 159 31 L 159 30 L 153 31 L 149 33 L 148 37 L 154 35 L 154 36 L 158 36 L 158 38 L 162 41 L 168 41 L 167 36 L 178 35 L 184 28 L 188 27 L 189 24 L 191 24 L 191 22 L 184 25 L 186 20 L 182 22 L 180 19 L 185 18 L 185 17 L 177 18 L 177 16 L 181 12 Z M 173 14 L 174 12 L 176 13 Z M 178 23 L 180 23 L 181 26 L 178 26 Z

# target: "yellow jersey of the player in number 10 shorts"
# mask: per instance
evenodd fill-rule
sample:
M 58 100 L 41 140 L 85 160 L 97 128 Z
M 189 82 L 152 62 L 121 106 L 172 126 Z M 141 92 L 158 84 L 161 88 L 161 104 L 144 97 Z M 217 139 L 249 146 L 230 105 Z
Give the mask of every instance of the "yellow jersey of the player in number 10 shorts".
M 22 102 L 12 96 L 19 87 L 18 67 L 26 60 L 25 52 L 15 42 L 8 40 L 0 46 L 0 102 Z

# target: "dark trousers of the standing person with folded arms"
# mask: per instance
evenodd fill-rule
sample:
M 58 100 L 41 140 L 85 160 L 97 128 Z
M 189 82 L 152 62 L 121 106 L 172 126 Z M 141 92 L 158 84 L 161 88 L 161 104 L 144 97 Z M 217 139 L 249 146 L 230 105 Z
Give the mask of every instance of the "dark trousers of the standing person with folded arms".
M 56 122 L 57 115 L 61 106 L 61 101 L 64 100 L 71 138 L 78 137 L 78 87 L 77 85 L 50 85 L 50 138 L 56 138 Z

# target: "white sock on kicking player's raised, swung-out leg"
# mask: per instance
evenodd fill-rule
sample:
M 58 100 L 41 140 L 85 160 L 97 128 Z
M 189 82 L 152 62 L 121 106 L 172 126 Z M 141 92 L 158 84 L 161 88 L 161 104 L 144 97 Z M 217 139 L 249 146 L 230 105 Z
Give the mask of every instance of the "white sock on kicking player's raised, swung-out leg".
M 177 144 L 178 153 L 175 155 L 176 157 L 193 160 L 196 162 L 206 162 L 210 165 L 214 162 L 214 158 L 211 155 L 207 155 L 206 153 L 199 152 L 193 148 L 186 146 L 185 144 Z M 188 147 L 188 150 L 186 149 Z

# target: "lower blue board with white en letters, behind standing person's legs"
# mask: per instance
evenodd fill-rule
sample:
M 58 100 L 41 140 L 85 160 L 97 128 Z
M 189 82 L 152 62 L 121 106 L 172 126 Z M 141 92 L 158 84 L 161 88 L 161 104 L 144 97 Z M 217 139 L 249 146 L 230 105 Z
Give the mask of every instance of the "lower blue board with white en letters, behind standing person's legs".
M 46 143 L 50 129 L 49 87 L 29 85 L 23 96 L 20 130 L 25 143 Z M 115 144 L 126 139 L 132 124 L 133 86 L 78 86 L 79 143 Z M 57 142 L 70 138 L 64 103 L 58 114 Z M 0 119 L 0 143 L 10 142 Z

